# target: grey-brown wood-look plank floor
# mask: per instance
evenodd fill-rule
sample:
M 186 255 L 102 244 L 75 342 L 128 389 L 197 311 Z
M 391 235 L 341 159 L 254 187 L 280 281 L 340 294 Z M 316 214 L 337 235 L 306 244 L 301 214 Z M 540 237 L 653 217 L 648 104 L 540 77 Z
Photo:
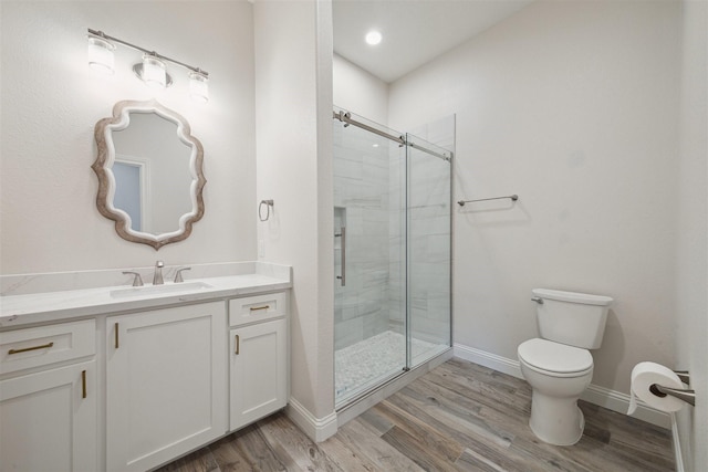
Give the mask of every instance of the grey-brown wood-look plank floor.
M 585 433 L 555 447 L 529 429 L 523 380 L 454 358 L 315 444 L 278 413 L 166 471 L 674 471 L 670 433 L 581 401 Z

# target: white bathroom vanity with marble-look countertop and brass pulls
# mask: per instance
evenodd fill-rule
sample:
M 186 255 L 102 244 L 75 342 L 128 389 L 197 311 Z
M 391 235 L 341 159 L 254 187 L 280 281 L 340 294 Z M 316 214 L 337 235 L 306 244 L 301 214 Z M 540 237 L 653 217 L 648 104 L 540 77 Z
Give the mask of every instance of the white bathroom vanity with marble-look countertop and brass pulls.
M 0 470 L 144 471 L 283 408 L 284 269 L 1 297 Z

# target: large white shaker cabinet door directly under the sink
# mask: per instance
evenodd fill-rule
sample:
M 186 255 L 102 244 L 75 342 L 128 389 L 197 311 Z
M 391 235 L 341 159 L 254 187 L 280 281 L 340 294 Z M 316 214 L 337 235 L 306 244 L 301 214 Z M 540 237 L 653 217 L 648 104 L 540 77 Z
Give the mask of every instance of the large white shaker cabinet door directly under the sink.
M 107 323 L 108 470 L 147 470 L 226 432 L 225 303 Z

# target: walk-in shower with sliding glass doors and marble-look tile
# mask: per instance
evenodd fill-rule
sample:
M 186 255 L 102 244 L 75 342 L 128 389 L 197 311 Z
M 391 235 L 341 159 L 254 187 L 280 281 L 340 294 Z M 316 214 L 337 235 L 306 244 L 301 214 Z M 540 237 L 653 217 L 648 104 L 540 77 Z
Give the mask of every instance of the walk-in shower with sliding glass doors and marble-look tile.
M 341 408 L 450 347 L 452 153 L 339 108 L 333 116 Z

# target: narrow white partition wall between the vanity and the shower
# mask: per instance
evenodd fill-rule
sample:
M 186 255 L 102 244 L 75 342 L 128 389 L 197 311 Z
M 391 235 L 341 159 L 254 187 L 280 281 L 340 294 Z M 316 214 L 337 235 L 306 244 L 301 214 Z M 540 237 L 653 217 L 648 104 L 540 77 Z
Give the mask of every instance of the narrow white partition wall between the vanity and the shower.
M 330 9 L 317 0 L 254 6 L 258 198 L 274 200 L 258 225 L 259 255 L 293 266 L 291 407 L 311 436 L 336 431 Z

